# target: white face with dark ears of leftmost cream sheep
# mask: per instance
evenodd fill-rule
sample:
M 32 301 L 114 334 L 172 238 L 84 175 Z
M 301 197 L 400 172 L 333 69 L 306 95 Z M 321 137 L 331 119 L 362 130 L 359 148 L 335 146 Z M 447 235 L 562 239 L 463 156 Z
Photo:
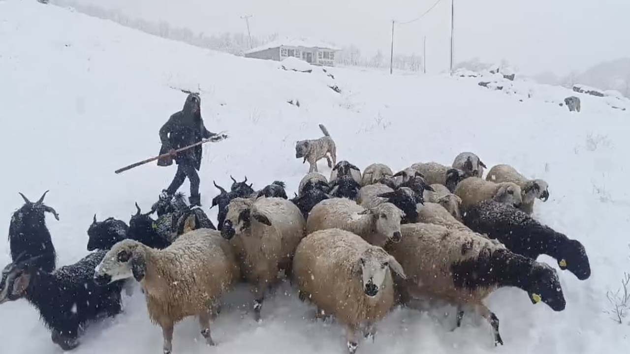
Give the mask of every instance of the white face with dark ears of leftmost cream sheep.
M 139 254 L 140 243 L 126 239 L 115 244 L 110 251 L 105 254 L 101 263 L 96 266 L 94 280 L 98 285 L 106 285 L 117 280 L 135 277 L 140 281 L 144 278 L 144 270 L 139 261 L 142 256 Z

